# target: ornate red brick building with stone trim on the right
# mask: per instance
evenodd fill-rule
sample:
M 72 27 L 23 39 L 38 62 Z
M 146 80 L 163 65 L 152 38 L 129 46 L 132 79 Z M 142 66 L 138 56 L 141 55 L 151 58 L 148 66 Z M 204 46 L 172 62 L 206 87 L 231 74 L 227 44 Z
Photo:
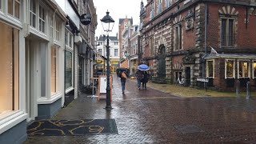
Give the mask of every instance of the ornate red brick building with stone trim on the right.
M 254 0 L 148 0 L 141 6 L 142 60 L 155 82 L 187 86 L 208 78 L 215 90 L 255 83 Z

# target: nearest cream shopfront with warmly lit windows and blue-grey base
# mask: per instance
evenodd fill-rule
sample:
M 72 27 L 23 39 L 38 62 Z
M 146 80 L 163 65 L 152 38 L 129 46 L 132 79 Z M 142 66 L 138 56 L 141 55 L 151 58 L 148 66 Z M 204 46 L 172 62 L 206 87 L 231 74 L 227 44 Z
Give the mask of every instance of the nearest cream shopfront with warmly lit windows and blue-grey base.
M 66 17 L 53 1 L 0 1 L 0 143 L 26 140 L 26 123 L 63 105 Z

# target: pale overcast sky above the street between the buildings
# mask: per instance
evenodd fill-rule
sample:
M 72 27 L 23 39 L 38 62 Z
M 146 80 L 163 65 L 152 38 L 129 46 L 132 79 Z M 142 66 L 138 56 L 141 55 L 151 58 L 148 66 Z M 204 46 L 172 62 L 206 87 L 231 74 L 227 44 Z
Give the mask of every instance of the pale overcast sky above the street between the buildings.
M 139 24 L 139 11 L 141 2 L 146 5 L 146 0 L 93 0 L 96 7 L 96 14 L 98 16 L 98 26 L 96 30 L 96 37 L 103 33 L 102 19 L 106 15 L 106 10 L 109 10 L 110 16 L 114 19 L 114 28 L 110 32 L 110 36 L 115 36 L 118 33 L 119 18 L 133 18 L 134 25 Z

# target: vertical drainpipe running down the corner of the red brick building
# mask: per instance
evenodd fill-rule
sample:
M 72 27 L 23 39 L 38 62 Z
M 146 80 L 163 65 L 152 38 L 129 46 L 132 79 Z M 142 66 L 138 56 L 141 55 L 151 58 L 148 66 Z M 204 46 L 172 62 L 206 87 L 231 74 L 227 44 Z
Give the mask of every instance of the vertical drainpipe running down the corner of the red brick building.
M 206 66 L 205 66 L 205 58 L 206 58 L 206 54 L 207 54 L 207 49 L 206 49 L 206 38 L 207 38 L 207 18 L 208 18 L 208 7 L 207 7 L 207 3 L 205 3 L 205 54 L 202 56 L 202 78 L 205 78 L 206 77 L 206 74 L 205 74 L 205 69 L 206 69 Z

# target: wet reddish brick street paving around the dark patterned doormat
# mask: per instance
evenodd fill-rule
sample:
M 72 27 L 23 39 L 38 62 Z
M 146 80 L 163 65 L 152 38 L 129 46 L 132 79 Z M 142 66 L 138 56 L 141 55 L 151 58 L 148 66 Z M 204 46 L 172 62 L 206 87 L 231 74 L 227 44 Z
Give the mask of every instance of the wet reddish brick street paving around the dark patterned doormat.
M 256 143 L 254 98 L 182 98 L 114 77 L 113 110 L 86 94 L 52 119 L 114 118 L 118 134 L 29 137 L 29 143 Z

